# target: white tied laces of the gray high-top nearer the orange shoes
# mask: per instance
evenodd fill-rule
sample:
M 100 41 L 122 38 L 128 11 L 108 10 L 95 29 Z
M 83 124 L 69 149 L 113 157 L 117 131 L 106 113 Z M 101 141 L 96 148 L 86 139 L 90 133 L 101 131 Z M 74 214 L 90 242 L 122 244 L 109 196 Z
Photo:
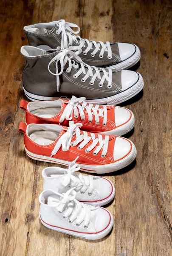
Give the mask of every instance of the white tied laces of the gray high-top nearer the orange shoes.
M 60 47 L 57 47 L 57 49 Z M 73 52 L 73 51 L 76 52 Z M 82 59 L 78 56 L 78 54 L 82 51 L 82 49 L 79 46 L 73 46 L 69 47 L 67 49 L 63 49 L 61 52 L 57 53 L 57 55 L 50 61 L 48 64 L 48 70 L 49 72 L 56 76 L 56 85 L 57 85 L 57 91 L 59 92 L 59 76 L 64 71 L 64 66 L 69 62 L 69 66 L 66 69 L 67 73 L 70 73 L 72 70 L 72 66 L 75 67 L 78 72 L 73 75 L 74 79 L 77 79 L 81 74 L 85 75 L 81 81 L 82 83 L 85 83 L 85 81 L 91 77 L 90 85 L 94 84 L 94 81 L 98 78 L 100 79 L 99 87 L 102 87 L 104 84 L 104 81 L 106 80 L 108 82 L 107 87 L 110 89 L 112 87 L 112 70 L 108 69 L 105 70 L 104 68 L 97 68 L 95 66 L 89 66 L 85 64 Z M 75 62 L 74 59 L 78 61 L 79 63 Z M 56 61 L 56 73 L 51 72 L 50 65 Z M 58 70 L 58 62 L 60 61 L 61 70 Z M 94 72 L 93 72 L 94 71 Z M 103 76 L 102 76 L 103 75 Z

